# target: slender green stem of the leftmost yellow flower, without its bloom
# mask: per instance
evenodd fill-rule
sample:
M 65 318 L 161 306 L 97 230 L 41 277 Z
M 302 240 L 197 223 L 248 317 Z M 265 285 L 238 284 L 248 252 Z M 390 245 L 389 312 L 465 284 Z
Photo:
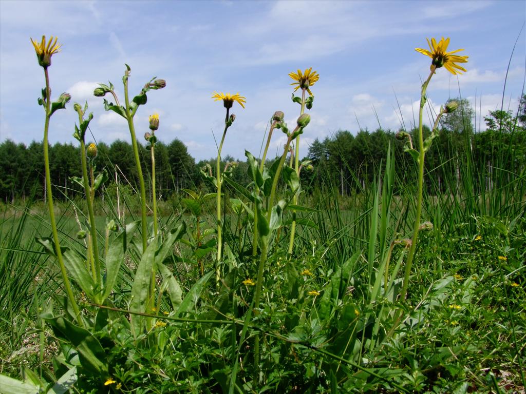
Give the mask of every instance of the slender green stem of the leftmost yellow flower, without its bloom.
M 53 211 L 53 194 L 51 191 L 51 177 L 49 174 L 49 147 L 48 147 L 48 132 L 49 132 L 49 119 L 51 118 L 51 88 L 49 87 L 49 75 L 47 67 L 44 67 L 44 75 L 46 76 L 46 122 L 44 124 L 44 167 L 46 172 L 46 190 L 47 190 L 47 206 L 49 208 L 49 221 L 51 222 L 51 230 L 53 231 L 53 241 L 55 242 L 55 252 L 57 254 L 58 265 L 60 266 L 60 273 L 64 281 L 64 287 L 66 288 L 66 294 L 69 298 L 69 302 L 72 304 L 73 311 L 77 318 L 77 322 L 81 327 L 84 327 L 84 322 L 80 316 L 80 310 L 78 309 L 75 301 L 75 296 L 67 277 L 66 266 L 62 257 L 62 251 L 60 250 L 60 243 L 58 241 L 57 223 L 55 221 L 55 212 Z

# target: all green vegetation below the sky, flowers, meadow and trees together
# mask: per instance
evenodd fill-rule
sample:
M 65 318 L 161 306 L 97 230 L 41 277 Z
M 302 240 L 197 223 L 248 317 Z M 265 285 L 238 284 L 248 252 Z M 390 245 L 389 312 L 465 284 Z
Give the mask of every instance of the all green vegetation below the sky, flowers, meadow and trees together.
M 34 43 L 45 71 L 55 44 Z M 456 66 L 431 57 L 421 108 L 435 68 Z M 2 144 L 12 161 L 0 154 L 0 392 L 524 389 L 523 113 L 490 112 L 475 133 L 464 117 L 448 118 L 447 103 L 432 130 L 341 131 L 300 161 L 289 148 L 310 121 L 310 71 L 292 73 L 297 124 L 272 117 L 287 136 L 279 160 L 246 152 L 237 165 L 218 155 L 194 166 L 179 141 L 165 146 L 154 134 L 150 150 L 56 145 L 44 163 L 38 143 Z M 126 66 L 125 87 L 130 76 Z M 106 109 L 134 138 L 137 107 L 165 86 L 152 79 L 131 100 L 125 88 L 124 106 L 112 84 L 94 94 L 113 97 Z M 48 96 L 46 130 L 56 108 Z M 226 130 L 242 96 L 217 96 Z M 74 108 L 84 147 L 92 115 Z M 16 159 L 30 151 L 35 161 Z M 66 156 L 78 164 L 67 167 Z M 54 185 L 47 212 L 44 178 L 25 178 L 44 164 Z

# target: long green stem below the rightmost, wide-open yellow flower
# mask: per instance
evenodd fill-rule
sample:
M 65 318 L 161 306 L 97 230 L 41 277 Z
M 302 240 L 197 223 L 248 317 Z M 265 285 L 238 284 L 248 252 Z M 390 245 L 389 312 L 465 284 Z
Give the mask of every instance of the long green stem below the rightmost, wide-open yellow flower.
M 434 74 L 434 67 L 431 68 L 428 79 L 422 85 L 422 92 L 420 95 L 420 110 L 418 112 L 418 145 L 419 145 L 419 157 L 418 157 L 418 192 L 417 192 L 417 212 L 414 218 L 413 225 L 413 237 L 411 240 L 411 247 L 409 248 L 409 254 L 407 256 L 406 271 L 403 278 L 402 291 L 400 293 L 400 300 L 403 302 L 406 299 L 407 287 L 409 285 L 409 275 L 411 274 L 411 265 L 413 263 L 414 252 L 417 247 L 418 230 L 420 227 L 420 216 L 422 213 L 422 192 L 423 192 L 423 178 L 424 178 L 424 159 L 426 152 L 424 152 L 424 140 L 422 135 L 422 114 L 424 106 L 426 105 L 426 89 Z

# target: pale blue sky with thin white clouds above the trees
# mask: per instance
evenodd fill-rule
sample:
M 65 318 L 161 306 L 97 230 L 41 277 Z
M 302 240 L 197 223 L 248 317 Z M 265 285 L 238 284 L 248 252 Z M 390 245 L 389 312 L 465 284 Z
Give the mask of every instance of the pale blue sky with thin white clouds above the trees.
M 301 155 L 315 138 L 338 130 L 396 130 L 418 116 L 420 81 L 430 59 L 415 47 L 426 37 L 450 37 L 449 50 L 464 48 L 468 72 L 457 77 L 441 68 L 428 97 L 435 106 L 459 96 L 486 115 L 500 108 L 505 72 L 526 18 L 526 2 L 0 2 L 0 140 L 42 140 L 44 112 L 37 104 L 44 86 L 29 37 L 58 36 L 62 51 L 49 68 L 53 98 L 72 95 L 67 110 L 52 118 L 50 141 L 75 141 L 73 101 L 88 101 L 98 141 L 129 141 L 127 124 L 104 111 L 93 97 L 97 82 L 112 81 L 123 98 L 124 64 L 131 66 L 130 94 L 151 77 L 167 81 L 152 91 L 135 117 L 139 135 L 158 112 L 161 141 L 179 138 L 197 160 L 214 157 L 213 132 L 224 127 L 213 91 L 247 98 L 234 106 L 224 154 L 244 158 L 260 152 L 268 119 L 276 110 L 294 124 L 299 106 L 290 100 L 288 73 L 313 67 L 312 121 Z M 504 107 L 517 108 L 523 90 L 525 29 L 519 36 L 504 92 Z M 395 96 L 396 95 L 396 96 Z M 397 105 L 397 98 L 400 108 Z M 481 111 L 479 111 L 481 109 Z M 378 119 L 375 115 L 378 115 Z M 478 115 L 477 115 L 478 117 Z M 429 116 L 426 116 L 429 123 Z M 483 126 L 482 120 L 482 126 Z M 477 120 L 478 128 L 478 120 Z M 90 137 L 91 139 L 91 137 Z M 284 138 L 272 141 L 277 152 Z

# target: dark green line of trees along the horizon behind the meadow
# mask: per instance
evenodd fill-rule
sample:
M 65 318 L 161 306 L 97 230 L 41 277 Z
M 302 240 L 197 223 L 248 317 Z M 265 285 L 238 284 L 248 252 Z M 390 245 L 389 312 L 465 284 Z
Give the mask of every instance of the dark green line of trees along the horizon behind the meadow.
M 490 111 L 484 117 L 486 130 L 475 132 L 473 127 L 474 110 L 467 100 L 457 100 L 457 111 L 448 114 L 440 124 L 439 137 L 433 141 L 426 154 L 426 170 L 432 172 L 427 177 L 440 191 L 446 191 L 451 179 L 462 176 L 466 169 L 466 160 L 473 173 L 491 173 L 493 168 L 505 170 L 510 174 L 524 171 L 526 164 L 526 103 L 521 100 L 516 113 L 511 111 Z M 408 131 L 412 134 L 414 130 Z M 424 127 L 424 138 L 430 134 Z M 305 163 L 300 173 L 302 188 L 310 193 L 316 188 L 335 187 L 340 194 L 359 192 L 378 177 L 382 163 L 391 147 L 395 155 L 398 179 L 402 181 L 414 178 L 414 163 L 404 152 L 404 141 L 397 139 L 397 133 L 391 130 L 360 130 L 353 135 L 348 130 L 340 130 L 323 140 L 316 139 L 308 154 L 302 159 Z M 418 142 L 413 139 L 413 144 Z M 145 145 L 139 144 L 143 171 L 150 173 L 150 152 Z M 138 183 L 131 143 L 116 140 L 111 144 L 103 142 L 97 145 L 97 170 L 108 173 L 106 187 L 119 182 L 135 187 Z M 42 142 L 33 141 L 26 146 L 5 140 L 0 144 L 0 198 L 8 203 L 16 199 L 45 199 L 44 160 Z M 71 143 L 56 143 L 49 147 L 50 175 L 57 198 L 70 198 L 80 191 L 71 180 L 79 177 L 80 151 Z M 214 168 L 215 159 L 201 160 L 196 163 L 188 153 L 187 147 L 178 139 L 168 144 L 157 142 L 155 146 L 157 195 L 168 199 L 180 189 L 199 189 L 205 185 L 201 171 L 207 171 L 206 165 Z M 233 164 L 230 176 L 241 184 L 249 183 L 247 162 L 234 160 L 230 156 L 223 158 L 222 168 L 228 162 Z M 310 165 L 309 165 L 310 164 Z M 489 187 L 491 184 L 481 185 Z M 149 187 L 149 185 L 148 185 Z

